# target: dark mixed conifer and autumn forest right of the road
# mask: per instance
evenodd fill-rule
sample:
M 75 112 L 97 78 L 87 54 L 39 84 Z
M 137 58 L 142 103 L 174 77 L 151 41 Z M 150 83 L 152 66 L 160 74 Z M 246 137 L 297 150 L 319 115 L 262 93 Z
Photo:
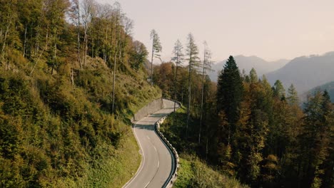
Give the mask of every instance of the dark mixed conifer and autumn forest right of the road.
M 265 77 L 258 78 L 254 69 L 241 75 L 236 63 L 232 56 L 228 58 L 218 85 L 211 83 L 206 73 L 189 74 L 189 68 L 181 63 L 156 67 L 163 95 L 175 95 L 183 105 L 191 106 L 191 110 L 176 111 L 161 127 L 183 158 L 181 179 L 176 184 L 206 187 L 221 183 L 201 179 L 208 175 L 204 169 L 201 176 L 196 174 L 201 165 L 191 159 L 199 157 L 224 176 L 251 187 L 333 187 L 334 108 L 330 95 L 316 92 L 301 109 L 293 85 L 286 90 L 280 80 L 270 85 Z M 189 85 L 191 90 L 187 90 Z

